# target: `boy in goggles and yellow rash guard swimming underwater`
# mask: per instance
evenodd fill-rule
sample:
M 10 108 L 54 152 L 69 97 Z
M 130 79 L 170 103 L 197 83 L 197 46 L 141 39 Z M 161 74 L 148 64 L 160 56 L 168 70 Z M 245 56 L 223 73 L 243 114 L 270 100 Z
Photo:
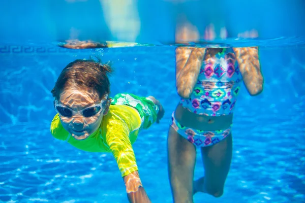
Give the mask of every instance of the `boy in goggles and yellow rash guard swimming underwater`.
M 141 129 L 164 115 L 153 96 L 117 94 L 109 97 L 111 67 L 94 60 L 75 60 L 60 73 L 52 94 L 57 112 L 54 138 L 88 152 L 111 152 L 130 202 L 150 202 L 139 178 L 132 144 Z

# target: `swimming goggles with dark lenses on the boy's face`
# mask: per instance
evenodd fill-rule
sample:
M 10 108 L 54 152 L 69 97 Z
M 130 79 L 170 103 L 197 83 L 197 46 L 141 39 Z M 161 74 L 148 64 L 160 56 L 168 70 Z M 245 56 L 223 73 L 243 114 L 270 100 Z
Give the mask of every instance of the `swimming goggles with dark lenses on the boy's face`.
M 85 109 L 82 109 L 80 111 L 74 111 L 73 109 L 64 106 L 64 105 L 60 105 L 58 104 L 58 101 L 55 99 L 54 100 L 54 108 L 55 111 L 63 117 L 67 117 L 67 118 L 71 118 L 72 116 L 79 114 L 82 115 L 83 117 L 92 117 L 97 115 L 98 113 L 100 113 L 103 109 L 106 103 L 108 103 L 108 99 L 107 99 L 107 95 L 106 95 L 106 99 L 102 99 L 101 103 L 95 106 L 91 106 Z

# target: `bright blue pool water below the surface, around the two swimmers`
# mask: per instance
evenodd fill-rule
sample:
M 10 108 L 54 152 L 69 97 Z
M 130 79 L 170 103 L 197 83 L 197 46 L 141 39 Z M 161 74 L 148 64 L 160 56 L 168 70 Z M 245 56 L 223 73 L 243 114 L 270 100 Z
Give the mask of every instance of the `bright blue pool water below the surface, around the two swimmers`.
M 111 95 L 154 95 L 166 113 L 142 131 L 134 150 L 153 202 L 172 202 L 166 138 L 175 89 L 174 47 L 68 50 L 51 45 L 0 47 L 0 201 L 127 202 L 111 154 L 79 151 L 49 132 L 52 89 L 77 58 L 112 61 Z M 305 48 L 261 47 L 264 91 L 242 87 L 234 113 L 233 159 L 221 198 L 196 194 L 195 202 L 305 202 Z M 203 175 L 197 156 L 195 178 Z

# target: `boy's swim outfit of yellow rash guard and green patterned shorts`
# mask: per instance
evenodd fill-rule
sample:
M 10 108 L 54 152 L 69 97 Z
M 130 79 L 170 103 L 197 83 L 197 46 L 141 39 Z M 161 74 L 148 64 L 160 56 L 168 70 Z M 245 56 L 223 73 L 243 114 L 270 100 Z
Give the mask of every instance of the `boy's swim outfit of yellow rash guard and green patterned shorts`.
M 76 140 L 64 129 L 56 114 L 51 133 L 58 140 L 87 152 L 112 152 L 121 176 L 138 170 L 132 144 L 141 128 L 148 128 L 157 119 L 159 108 L 148 98 L 133 94 L 117 94 L 98 130 L 85 140 Z

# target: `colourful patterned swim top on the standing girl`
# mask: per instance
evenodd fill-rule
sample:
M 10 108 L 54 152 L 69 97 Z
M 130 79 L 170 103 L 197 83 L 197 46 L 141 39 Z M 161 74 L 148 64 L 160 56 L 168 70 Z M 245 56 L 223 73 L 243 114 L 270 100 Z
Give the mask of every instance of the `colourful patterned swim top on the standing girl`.
M 195 114 L 229 115 L 233 112 L 242 76 L 232 48 L 202 62 L 197 84 L 188 99 L 180 105 Z

